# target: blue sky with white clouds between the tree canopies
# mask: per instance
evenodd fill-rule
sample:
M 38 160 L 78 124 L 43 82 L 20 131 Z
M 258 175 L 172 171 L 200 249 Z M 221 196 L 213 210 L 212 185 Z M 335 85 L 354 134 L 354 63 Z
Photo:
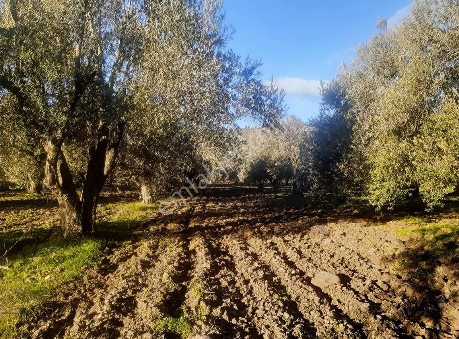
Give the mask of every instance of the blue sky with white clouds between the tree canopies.
M 242 57 L 263 61 L 263 79 L 278 79 L 290 114 L 307 120 L 318 112 L 319 80 L 330 80 L 341 61 L 376 33 L 376 22 L 397 24 L 410 0 L 225 0 L 229 42 Z

